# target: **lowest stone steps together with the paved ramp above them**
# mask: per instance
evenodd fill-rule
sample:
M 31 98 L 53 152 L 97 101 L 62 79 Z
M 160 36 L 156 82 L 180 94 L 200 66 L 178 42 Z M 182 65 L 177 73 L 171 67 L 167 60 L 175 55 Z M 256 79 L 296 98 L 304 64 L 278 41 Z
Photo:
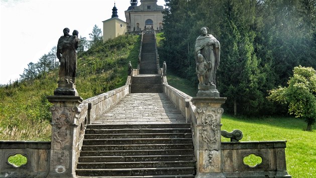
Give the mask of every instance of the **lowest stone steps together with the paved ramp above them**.
M 87 126 L 76 174 L 194 177 L 191 125 L 165 94 L 129 94 Z

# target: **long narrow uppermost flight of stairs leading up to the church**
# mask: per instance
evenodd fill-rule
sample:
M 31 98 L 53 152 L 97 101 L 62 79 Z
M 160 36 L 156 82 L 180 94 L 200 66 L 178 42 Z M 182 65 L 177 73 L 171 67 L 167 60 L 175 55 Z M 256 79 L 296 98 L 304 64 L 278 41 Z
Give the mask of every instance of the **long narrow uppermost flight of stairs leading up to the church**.
M 154 33 L 145 33 L 143 35 L 139 72 L 140 74 L 157 73 Z

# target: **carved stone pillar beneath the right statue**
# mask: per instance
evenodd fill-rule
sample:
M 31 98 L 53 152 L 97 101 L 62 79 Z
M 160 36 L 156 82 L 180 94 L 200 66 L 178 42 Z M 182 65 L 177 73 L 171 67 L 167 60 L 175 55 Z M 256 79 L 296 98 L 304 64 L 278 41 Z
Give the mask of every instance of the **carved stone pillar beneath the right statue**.
M 196 106 L 194 127 L 194 150 L 197 159 L 195 177 L 225 177 L 221 160 L 221 105 L 226 98 L 194 97 Z

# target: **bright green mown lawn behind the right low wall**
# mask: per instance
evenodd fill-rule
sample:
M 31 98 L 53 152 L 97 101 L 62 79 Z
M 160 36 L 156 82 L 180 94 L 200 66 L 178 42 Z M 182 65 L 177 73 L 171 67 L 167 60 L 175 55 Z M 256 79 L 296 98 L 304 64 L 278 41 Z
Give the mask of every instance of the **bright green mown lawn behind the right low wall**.
M 283 117 L 236 118 L 222 117 L 222 130 L 239 129 L 241 141 L 286 140 L 286 167 L 292 177 L 316 177 L 316 132 L 303 131 L 306 124 L 299 119 Z M 222 141 L 229 141 L 223 138 Z

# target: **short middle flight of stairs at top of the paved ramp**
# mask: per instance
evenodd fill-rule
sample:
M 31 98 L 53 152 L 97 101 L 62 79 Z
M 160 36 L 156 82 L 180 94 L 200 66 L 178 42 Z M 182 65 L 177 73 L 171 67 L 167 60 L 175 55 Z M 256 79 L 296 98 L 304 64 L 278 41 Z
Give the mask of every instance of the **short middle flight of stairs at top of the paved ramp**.
M 163 93 L 161 75 L 135 75 L 132 77 L 130 93 Z

